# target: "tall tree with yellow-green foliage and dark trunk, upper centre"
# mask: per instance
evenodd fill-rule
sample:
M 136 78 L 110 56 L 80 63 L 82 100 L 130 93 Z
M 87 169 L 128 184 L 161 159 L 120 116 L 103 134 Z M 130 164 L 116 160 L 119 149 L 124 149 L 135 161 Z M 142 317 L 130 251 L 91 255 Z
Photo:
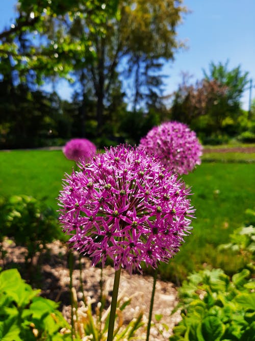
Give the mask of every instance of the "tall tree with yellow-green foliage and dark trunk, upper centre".
M 112 3 L 101 6 L 106 11 L 104 20 L 84 11 L 81 4 L 76 12 L 68 14 L 68 19 L 50 17 L 45 23 L 48 41 L 57 46 L 55 53 L 60 57 L 63 46 L 68 45 L 74 77 L 82 82 L 83 75 L 83 81 L 93 86 L 99 133 L 105 105 L 121 72 L 127 71 L 126 75 L 135 80 L 134 101 L 140 101 L 144 92 L 150 95 L 151 89 L 157 93 L 160 82 L 155 82 L 155 71 L 164 60 L 173 59 L 182 46 L 176 38 L 176 26 L 186 12 L 181 0 L 120 1 L 116 13 L 108 9 Z

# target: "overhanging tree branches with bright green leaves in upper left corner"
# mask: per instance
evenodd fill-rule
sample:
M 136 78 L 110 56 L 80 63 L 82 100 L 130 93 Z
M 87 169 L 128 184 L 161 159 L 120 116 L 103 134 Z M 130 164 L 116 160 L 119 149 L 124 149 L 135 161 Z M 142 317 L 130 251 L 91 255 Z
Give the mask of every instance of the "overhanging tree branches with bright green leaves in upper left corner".
M 58 48 L 56 42 L 48 39 L 48 23 L 60 17 L 67 19 L 68 15 L 72 18 L 81 7 L 84 15 L 96 18 L 97 23 L 104 22 L 107 15 L 115 13 L 118 0 L 108 3 L 105 9 L 103 0 L 18 0 L 15 22 L 0 33 L 0 58 L 10 57 L 13 69 L 21 78 L 28 70 L 35 70 L 37 83 L 44 77 L 65 77 L 72 70 L 73 54 L 79 52 L 78 45 L 64 39 Z M 29 42 L 22 53 L 20 36 Z M 84 39 L 83 45 L 88 47 L 90 41 Z

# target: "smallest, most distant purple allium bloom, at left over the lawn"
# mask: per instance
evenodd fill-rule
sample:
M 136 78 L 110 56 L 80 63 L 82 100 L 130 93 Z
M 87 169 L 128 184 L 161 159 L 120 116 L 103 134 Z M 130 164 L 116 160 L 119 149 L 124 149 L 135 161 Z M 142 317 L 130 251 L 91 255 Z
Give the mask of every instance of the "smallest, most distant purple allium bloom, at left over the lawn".
M 69 160 L 79 161 L 81 157 L 89 159 L 96 153 L 96 146 L 86 138 L 73 138 L 63 148 L 65 157 Z

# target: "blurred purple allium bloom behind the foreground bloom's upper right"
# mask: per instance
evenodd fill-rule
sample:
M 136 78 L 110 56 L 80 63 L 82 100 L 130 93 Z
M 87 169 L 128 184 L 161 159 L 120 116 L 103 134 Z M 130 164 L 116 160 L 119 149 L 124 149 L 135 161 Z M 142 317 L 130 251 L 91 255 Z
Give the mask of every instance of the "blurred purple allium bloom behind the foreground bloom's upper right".
M 147 153 L 179 174 L 188 174 L 201 163 L 202 146 L 194 131 L 179 122 L 165 122 L 152 128 L 140 141 Z

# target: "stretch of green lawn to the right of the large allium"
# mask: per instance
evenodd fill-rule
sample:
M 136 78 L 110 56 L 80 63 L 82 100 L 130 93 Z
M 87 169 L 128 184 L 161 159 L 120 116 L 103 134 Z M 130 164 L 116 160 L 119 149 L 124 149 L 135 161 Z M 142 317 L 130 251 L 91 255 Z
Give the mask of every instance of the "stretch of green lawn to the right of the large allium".
M 217 246 L 228 242 L 234 229 L 249 223 L 245 214 L 255 203 L 255 164 L 202 163 L 184 176 L 192 186 L 192 204 L 196 208 L 192 235 L 168 265 L 163 265 L 165 278 L 177 275 L 183 279 L 187 271 L 212 264 L 233 273 L 242 265 L 242 259 L 217 251 Z

